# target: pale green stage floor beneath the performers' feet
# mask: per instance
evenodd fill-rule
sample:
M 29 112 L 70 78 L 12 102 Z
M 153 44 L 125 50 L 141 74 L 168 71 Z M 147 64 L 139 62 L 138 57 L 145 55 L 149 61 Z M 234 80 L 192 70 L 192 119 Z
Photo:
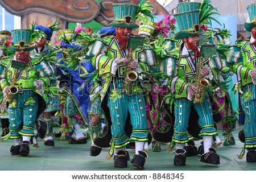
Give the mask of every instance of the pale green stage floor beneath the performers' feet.
M 201 156 L 187 157 L 186 166 L 174 166 L 174 151 L 167 152 L 168 144 L 162 144 L 162 151 L 152 152 L 149 146 L 148 159 L 144 165 L 144 170 L 149 171 L 254 171 L 256 163 L 246 162 L 245 156 L 240 160 L 237 154 L 240 154 L 243 143 L 238 139 L 238 132 L 242 129 L 233 131 L 236 145 L 218 146 L 217 154 L 220 155 L 220 165 L 214 166 L 200 162 Z M 59 127 L 54 127 L 58 131 Z M 221 136 L 222 130 L 218 129 Z M 11 155 L 10 148 L 14 144 L 13 139 L 8 139 L 0 143 L 0 170 L 1 171 L 134 171 L 134 166 L 128 163 L 127 168 L 115 168 L 114 160 L 106 159 L 108 148 L 104 148 L 100 155 L 90 156 L 90 140 L 86 144 L 68 144 L 68 140 L 55 138 L 55 146 L 44 146 L 43 140 L 38 139 L 39 148 L 30 146 L 30 154 L 27 157 L 20 155 Z M 200 140 L 196 141 L 196 146 L 200 146 Z M 133 158 L 134 150 L 128 150 L 130 158 Z

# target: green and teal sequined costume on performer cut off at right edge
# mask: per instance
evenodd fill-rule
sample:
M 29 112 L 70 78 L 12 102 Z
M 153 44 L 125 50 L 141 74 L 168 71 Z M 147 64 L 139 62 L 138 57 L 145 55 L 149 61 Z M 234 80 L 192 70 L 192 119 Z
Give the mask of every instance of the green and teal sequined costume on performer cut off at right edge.
M 245 154 L 245 149 L 256 147 L 256 117 L 255 117 L 255 98 L 256 82 L 250 76 L 255 69 L 256 46 L 250 45 L 255 39 L 251 37 L 249 41 L 235 44 L 232 47 L 233 55 L 227 60 L 226 65 L 232 66 L 232 71 L 236 73 L 238 82 L 234 89 L 239 91 L 242 109 L 245 112 L 245 123 L 243 132 L 245 135 L 245 144 L 240 154 L 240 159 Z M 254 161 L 252 161 L 254 162 Z

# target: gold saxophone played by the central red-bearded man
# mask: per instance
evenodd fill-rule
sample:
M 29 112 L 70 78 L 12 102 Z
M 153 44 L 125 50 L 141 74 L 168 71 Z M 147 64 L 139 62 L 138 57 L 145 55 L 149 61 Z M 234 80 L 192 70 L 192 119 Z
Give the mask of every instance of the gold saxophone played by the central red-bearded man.
M 123 82 L 123 93 L 132 94 L 133 84 L 135 80 L 137 80 L 138 78 L 138 74 L 128 66 L 130 61 L 133 61 L 133 49 L 129 50 L 129 55 L 127 58 L 128 58 L 128 62 L 126 63 L 126 66 L 125 66 L 125 80 Z

